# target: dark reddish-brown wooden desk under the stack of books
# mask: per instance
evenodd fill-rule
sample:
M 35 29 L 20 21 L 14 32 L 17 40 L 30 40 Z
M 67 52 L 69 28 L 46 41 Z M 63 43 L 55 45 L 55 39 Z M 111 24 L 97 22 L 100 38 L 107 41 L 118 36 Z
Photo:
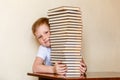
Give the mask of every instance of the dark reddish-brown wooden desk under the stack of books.
M 40 78 L 49 80 L 120 80 L 120 73 L 117 72 L 89 72 L 86 76 L 81 77 L 66 77 L 55 74 L 41 74 L 41 73 L 27 73 L 29 76 L 36 76 Z

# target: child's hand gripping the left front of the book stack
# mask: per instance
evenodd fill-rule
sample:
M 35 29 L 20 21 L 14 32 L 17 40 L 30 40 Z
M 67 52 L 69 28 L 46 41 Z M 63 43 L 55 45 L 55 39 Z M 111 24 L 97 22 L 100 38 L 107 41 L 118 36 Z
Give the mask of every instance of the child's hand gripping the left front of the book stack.
M 56 74 L 64 75 L 67 72 L 66 64 L 62 64 L 61 61 L 55 62 L 54 67 L 55 67 L 55 73 Z

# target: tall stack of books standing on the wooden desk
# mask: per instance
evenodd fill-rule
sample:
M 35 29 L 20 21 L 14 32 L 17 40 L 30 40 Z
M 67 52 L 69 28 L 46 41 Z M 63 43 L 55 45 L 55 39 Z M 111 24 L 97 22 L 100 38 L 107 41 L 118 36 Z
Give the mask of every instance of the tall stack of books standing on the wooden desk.
M 66 76 L 80 76 L 82 20 L 78 7 L 62 6 L 48 10 L 51 62 L 67 65 Z

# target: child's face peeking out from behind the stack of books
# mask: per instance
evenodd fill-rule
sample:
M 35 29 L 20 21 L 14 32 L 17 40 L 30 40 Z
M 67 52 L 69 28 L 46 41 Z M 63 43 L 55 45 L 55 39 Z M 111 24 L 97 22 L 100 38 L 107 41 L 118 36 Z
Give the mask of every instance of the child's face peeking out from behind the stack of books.
M 50 47 L 50 30 L 46 24 L 42 24 L 36 29 L 35 36 L 41 45 Z

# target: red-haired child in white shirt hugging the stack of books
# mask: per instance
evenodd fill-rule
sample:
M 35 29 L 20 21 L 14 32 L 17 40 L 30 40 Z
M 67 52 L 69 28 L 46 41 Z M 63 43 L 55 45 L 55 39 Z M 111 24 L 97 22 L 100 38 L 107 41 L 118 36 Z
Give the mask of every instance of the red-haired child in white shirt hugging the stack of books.
M 32 32 L 36 39 L 40 43 L 40 47 L 33 63 L 33 72 L 40 73 L 56 73 L 64 75 L 67 71 L 67 66 L 61 64 L 61 61 L 51 66 L 50 62 L 50 25 L 48 18 L 42 17 L 38 19 L 32 26 Z M 80 62 L 80 72 L 84 74 L 86 72 L 86 65 L 82 61 Z

